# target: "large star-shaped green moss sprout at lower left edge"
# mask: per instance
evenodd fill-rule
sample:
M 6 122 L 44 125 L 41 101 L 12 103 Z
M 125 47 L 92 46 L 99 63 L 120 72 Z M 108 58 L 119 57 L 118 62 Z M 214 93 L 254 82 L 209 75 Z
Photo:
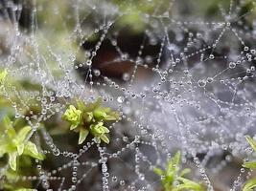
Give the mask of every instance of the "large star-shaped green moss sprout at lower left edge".
M 27 155 L 35 159 L 44 159 L 44 156 L 38 152 L 35 143 L 26 140 L 32 131 L 32 127 L 25 126 L 16 133 L 12 127 L 11 119 L 4 117 L 0 128 L 2 131 L 2 136 L 0 137 L 0 158 L 8 155 L 8 164 L 12 170 L 16 170 L 16 160 L 21 155 Z

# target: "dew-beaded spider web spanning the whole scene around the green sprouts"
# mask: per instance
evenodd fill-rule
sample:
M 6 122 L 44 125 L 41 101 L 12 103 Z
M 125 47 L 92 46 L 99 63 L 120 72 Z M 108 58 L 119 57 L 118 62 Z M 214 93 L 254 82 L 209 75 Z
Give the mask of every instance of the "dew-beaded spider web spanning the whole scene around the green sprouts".
M 255 2 L 116 2 L 0 3 L 0 66 L 20 81 L 1 95 L 46 155 L 37 175 L 19 179 L 44 190 L 158 190 L 153 168 L 181 150 L 208 190 L 241 190 L 251 172 L 232 165 L 255 134 Z M 56 133 L 73 98 L 97 97 L 121 114 L 108 145 Z

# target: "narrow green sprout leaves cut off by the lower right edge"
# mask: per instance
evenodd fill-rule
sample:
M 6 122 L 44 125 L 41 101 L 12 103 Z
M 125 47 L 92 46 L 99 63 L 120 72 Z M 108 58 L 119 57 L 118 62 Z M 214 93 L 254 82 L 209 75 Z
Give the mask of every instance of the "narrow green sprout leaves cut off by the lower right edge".
M 256 152 L 256 141 L 253 138 L 250 138 L 249 136 L 245 136 L 247 142 L 251 146 L 251 148 Z M 256 169 L 256 160 L 254 161 L 246 161 L 244 162 L 243 166 L 245 168 L 249 169 Z M 256 188 L 256 178 L 247 180 L 244 184 L 243 191 L 252 191 L 254 188 Z

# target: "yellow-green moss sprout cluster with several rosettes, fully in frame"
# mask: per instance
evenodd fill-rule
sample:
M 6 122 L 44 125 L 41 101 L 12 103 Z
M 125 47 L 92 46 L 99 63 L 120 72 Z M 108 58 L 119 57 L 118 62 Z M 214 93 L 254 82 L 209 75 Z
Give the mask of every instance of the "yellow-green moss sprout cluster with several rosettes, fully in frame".
M 80 133 L 79 144 L 87 138 L 89 133 L 98 143 L 101 143 L 101 140 L 109 143 L 106 136 L 109 130 L 105 127 L 105 122 L 117 120 L 119 114 L 101 105 L 101 99 L 93 103 L 77 101 L 77 107 L 70 105 L 65 111 L 63 118 L 70 123 L 70 130 Z

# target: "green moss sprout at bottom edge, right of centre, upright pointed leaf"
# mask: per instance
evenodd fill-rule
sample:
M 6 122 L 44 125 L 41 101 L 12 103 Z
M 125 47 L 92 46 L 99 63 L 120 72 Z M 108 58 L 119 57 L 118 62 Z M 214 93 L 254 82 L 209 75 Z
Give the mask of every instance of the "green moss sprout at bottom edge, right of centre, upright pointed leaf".
M 165 191 L 203 191 L 203 187 L 198 182 L 183 178 L 190 173 L 190 169 L 185 168 L 180 171 L 180 152 L 175 154 L 175 157 L 168 161 L 166 170 L 154 168 L 154 173 L 161 177 L 162 185 Z

